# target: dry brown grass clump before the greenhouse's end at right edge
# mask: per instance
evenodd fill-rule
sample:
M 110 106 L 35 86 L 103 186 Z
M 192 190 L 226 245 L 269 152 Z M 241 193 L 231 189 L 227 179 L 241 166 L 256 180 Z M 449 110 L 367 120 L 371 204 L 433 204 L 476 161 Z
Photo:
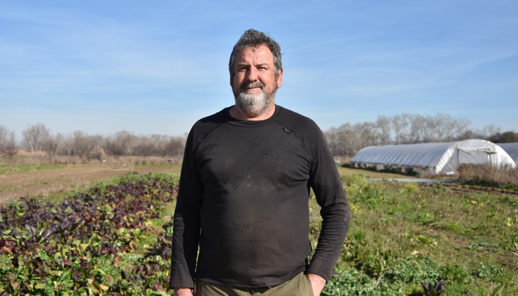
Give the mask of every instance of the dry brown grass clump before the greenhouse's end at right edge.
M 518 184 L 518 168 L 467 166 L 461 169 L 459 175 L 468 183 Z

